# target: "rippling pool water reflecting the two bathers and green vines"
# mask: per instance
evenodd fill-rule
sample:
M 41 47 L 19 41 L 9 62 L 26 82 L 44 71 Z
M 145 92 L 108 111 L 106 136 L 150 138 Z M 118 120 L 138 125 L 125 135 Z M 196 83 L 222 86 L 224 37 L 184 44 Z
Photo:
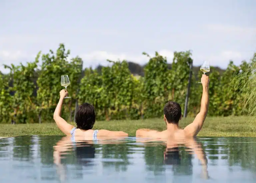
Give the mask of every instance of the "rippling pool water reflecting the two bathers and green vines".
M 256 138 L 0 140 L 0 182 L 256 182 Z

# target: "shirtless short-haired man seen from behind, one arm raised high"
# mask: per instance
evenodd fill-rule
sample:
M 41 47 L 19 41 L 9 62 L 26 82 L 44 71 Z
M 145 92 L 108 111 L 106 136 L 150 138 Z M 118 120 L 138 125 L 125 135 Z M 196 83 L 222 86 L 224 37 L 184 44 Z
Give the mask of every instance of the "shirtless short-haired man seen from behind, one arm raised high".
M 152 137 L 152 138 L 167 138 L 173 137 L 178 140 L 185 137 L 195 137 L 201 130 L 204 120 L 208 112 L 209 95 L 208 85 L 209 77 L 202 75 L 201 83 L 203 86 L 203 94 L 201 99 L 201 109 L 194 119 L 193 123 L 186 126 L 184 129 L 179 128 L 179 120 L 181 119 L 181 107 L 176 102 L 168 102 L 164 106 L 164 121 L 167 125 L 167 130 L 162 132 L 150 129 L 139 129 L 136 131 L 136 137 Z

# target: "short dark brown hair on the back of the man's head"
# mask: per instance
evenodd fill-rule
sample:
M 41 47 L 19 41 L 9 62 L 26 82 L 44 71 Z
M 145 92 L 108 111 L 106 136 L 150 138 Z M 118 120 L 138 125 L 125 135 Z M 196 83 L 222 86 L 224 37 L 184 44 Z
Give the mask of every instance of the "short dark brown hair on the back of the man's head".
M 167 102 L 164 106 L 164 115 L 168 123 L 177 124 L 181 117 L 181 107 L 177 102 Z

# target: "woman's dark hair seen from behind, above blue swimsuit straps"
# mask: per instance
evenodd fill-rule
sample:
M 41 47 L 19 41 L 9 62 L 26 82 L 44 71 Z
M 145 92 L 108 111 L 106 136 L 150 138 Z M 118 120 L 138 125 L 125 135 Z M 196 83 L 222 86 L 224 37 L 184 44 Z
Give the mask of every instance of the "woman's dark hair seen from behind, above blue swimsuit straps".
M 90 130 L 92 129 L 95 123 L 95 110 L 93 105 L 84 103 L 80 105 L 76 112 L 76 125 L 77 128 L 81 130 Z

